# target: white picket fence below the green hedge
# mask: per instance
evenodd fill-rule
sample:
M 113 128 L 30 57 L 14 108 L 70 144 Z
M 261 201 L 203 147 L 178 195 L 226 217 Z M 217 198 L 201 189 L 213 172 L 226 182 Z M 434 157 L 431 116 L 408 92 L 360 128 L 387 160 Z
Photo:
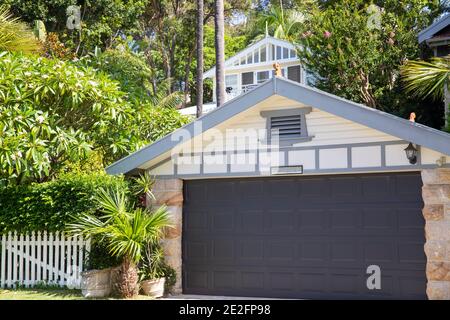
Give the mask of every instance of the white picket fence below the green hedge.
M 0 287 L 52 284 L 79 288 L 90 241 L 64 233 L 0 235 Z

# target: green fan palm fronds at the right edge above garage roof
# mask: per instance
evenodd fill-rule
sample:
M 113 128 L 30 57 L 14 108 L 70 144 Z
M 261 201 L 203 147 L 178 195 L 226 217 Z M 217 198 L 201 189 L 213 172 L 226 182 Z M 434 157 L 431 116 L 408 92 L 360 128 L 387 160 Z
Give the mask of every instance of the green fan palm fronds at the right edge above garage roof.
M 450 83 L 450 55 L 430 62 L 408 61 L 401 70 L 405 90 L 416 97 L 442 99 Z

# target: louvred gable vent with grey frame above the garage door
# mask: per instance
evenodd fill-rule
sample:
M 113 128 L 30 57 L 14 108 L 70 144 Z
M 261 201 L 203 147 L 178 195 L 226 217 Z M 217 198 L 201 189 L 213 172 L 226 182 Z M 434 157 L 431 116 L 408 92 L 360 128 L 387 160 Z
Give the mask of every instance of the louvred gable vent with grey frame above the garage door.
M 311 108 L 262 111 L 267 121 L 267 143 L 279 146 L 291 146 L 295 143 L 311 141 L 306 126 L 306 114 Z

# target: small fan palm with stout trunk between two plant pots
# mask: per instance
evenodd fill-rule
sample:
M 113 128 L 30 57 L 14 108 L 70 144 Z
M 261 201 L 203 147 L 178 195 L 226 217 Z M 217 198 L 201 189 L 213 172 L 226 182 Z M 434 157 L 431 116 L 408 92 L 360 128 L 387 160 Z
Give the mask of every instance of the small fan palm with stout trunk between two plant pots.
M 95 196 L 103 216 L 83 213 L 68 225 L 70 233 L 87 237 L 100 237 L 111 255 L 121 258 L 116 291 L 125 298 L 137 294 L 137 264 L 148 243 L 155 243 L 170 227 L 166 207 L 150 212 L 144 208 L 130 209 L 125 192 L 101 188 Z

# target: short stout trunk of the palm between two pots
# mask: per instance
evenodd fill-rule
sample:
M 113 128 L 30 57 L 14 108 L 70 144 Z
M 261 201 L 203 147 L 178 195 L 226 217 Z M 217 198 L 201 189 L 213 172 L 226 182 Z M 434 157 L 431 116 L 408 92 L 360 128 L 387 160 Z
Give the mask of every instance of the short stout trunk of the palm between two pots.
M 122 298 L 131 298 L 138 294 L 137 267 L 130 259 L 124 259 L 112 280 L 114 292 Z

